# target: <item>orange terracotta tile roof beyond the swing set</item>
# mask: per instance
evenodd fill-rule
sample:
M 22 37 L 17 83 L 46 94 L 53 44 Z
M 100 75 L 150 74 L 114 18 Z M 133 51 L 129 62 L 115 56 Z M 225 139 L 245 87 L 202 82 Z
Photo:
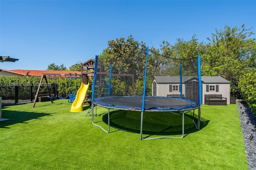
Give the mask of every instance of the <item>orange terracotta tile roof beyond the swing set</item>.
M 20 75 L 27 75 L 28 76 L 42 76 L 42 74 L 81 74 L 81 71 L 58 71 L 58 70 L 22 70 L 22 69 L 16 69 L 16 70 L 4 70 L 3 71 L 6 72 L 10 72 L 10 73 L 16 73 L 16 74 L 20 74 Z

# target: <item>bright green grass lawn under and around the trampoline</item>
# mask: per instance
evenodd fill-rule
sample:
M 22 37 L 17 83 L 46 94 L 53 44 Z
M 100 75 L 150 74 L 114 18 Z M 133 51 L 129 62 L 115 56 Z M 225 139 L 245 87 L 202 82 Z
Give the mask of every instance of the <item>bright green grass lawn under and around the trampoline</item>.
M 140 140 L 140 113 L 112 111 L 110 133 L 71 103 L 3 105 L 0 169 L 248 170 L 237 105 L 202 105 L 201 129 L 185 116 L 181 139 Z M 97 113 L 107 110 L 97 107 Z M 197 112 L 196 112 L 197 113 Z M 94 117 L 107 129 L 106 115 Z M 182 116 L 144 113 L 143 137 L 181 136 Z

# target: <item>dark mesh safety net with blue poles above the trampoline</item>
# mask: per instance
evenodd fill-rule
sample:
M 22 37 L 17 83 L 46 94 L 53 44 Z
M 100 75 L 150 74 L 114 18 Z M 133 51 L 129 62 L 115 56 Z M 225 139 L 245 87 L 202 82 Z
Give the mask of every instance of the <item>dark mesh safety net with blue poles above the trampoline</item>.
M 122 55 L 111 51 L 96 58 L 93 99 L 145 93 L 146 96 L 181 97 L 201 104 L 198 56 L 159 53 L 156 49 L 147 51 L 141 47 L 129 53 L 124 51 Z

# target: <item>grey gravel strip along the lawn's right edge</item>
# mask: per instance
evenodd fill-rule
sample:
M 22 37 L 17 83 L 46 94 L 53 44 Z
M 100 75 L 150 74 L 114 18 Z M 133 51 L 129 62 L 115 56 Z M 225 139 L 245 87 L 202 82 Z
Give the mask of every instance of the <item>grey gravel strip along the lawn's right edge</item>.
M 249 170 L 256 170 L 256 114 L 244 101 L 237 101 Z

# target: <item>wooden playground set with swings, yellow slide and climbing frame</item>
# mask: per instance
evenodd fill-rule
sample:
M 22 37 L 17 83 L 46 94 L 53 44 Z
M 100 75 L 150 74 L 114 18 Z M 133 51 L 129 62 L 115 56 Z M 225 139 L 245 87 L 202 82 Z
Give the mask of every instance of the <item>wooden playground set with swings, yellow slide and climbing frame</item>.
M 67 99 L 69 103 L 72 103 L 70 109 L 71 112 L 81 112 L 83 111 L 83 105 L 91 104 L 91 92 L 92 81 L 94 77 L 94 63 L 93 59 L 90 59 L 81 65 L 81 73 L 67 73 L 67 74 L 56 74 L 56 73 L 44 73 L 41 76 L 40 82 L 38 83 L 38 89 L 36 91 L 34 103 L 32 107 L 34 108 L 37 101 L 51 101 L 54 103 L 54 99 Z M 94 94 L 95 95 L 107 95 L 109 84 L 106 81 L 106 76 L 109 76 L 109 72 L 104 72 L 104 68 L 99 70 L 100 79 L 95 85 Z M 113 76 L 131 76 L 134 78 L 134 74 L 113 74 Z M 50 84 L 49 80 L 54 79 L 53 85 Z M 68 79 L 68 81 L 67 81 Z M 74 86 L 74 83 L 70 83 L 70 79 L 75 82 L 75 87 L 70 90 L 70 86 Z M 76 84 L 76 79 L 81 79 L 80 88 Z M 65 82 L 64 84 L 61 82 Z M 65 94 L 60 93 L 61 89 L 65 89 Z M 134 79 L 132 83 L 132 91 L 134 94 Z

